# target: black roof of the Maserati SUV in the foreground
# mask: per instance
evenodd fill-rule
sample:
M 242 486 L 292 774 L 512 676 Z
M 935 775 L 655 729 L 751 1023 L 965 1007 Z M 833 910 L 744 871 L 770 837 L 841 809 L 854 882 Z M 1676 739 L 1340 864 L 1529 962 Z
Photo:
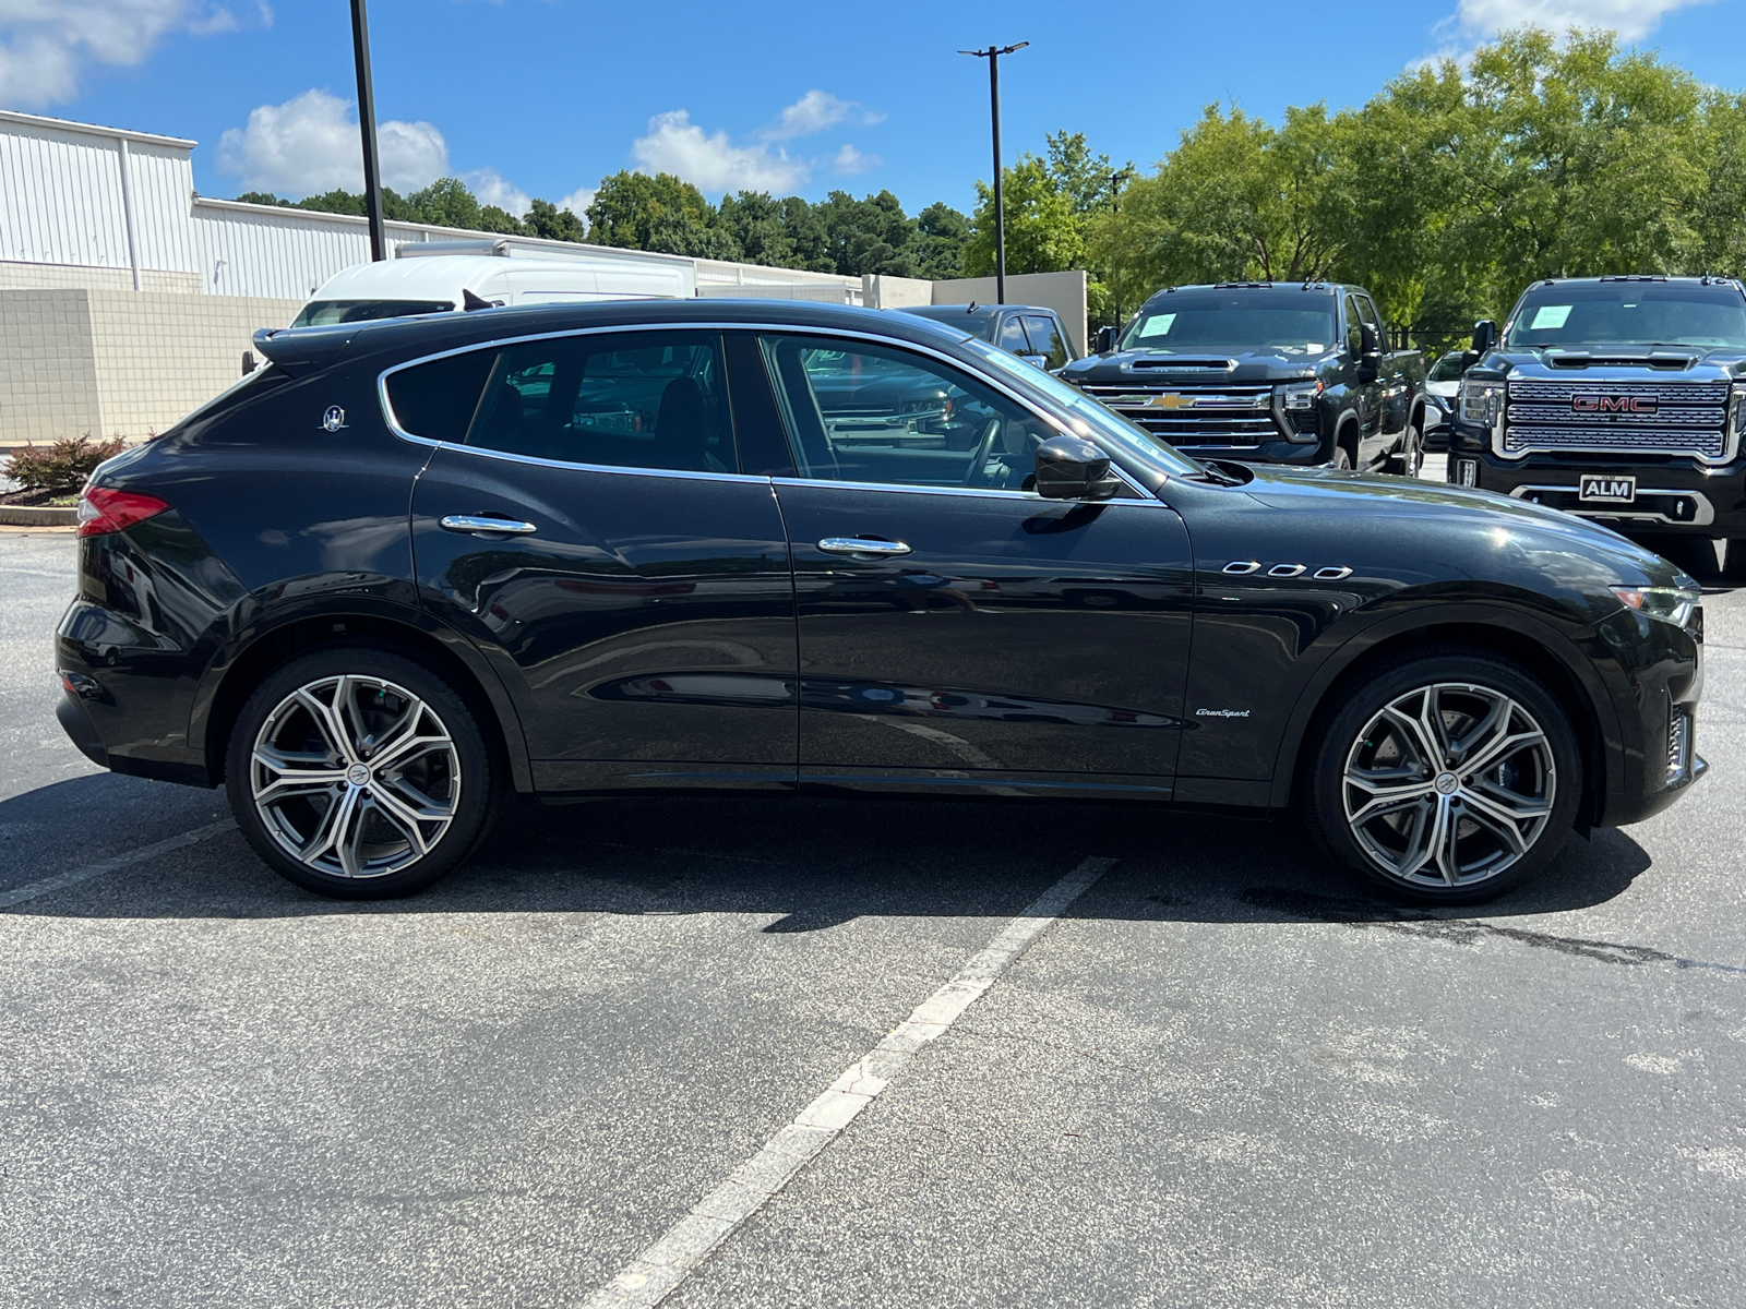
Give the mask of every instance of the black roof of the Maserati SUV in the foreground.
M 416 358 L 513 337 L 540 337 L 588 328 L 648 325 L 746 325 L 866 332 L 917 346 L 969 340 L 945 323 L 883 309 L 856 309 L 812 300 L 597 300 L 590 304 L 508 305 L 473 312 L 384 318 L 333 326 L 281 328 L 255 333 L 255 347 L 288 372 L 306 372 L 375 354 Z

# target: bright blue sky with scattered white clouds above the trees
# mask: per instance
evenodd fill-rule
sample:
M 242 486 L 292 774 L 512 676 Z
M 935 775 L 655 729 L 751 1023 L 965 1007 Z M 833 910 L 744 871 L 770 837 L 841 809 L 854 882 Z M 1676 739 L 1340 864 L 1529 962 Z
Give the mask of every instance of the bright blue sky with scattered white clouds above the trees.
M 1521 21 L 1613 26 L 1746 80 L 1746 0 L 370 3 L 386 178 L 447 171 L 506 208 L 580 206 L 641 166 L 712 197 L 889 187 L 911 213 L 969 209 L 988 82 L 960 47 L 1032 44 L 1002 59 L 1009 161 L 1065 127 L 1151 166 L 1208 101 L 1357 105 Z M 194 138 L 208 195 L 356 187 L 353 96 L 346 0 L 0 0 L 0 106 Z

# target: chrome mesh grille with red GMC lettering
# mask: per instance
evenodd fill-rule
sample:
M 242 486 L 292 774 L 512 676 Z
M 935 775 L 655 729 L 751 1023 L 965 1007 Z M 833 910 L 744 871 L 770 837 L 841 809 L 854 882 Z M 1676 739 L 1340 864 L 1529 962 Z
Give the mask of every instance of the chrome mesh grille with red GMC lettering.
M 1722 459 L 1729 382 L 1510 382 L 1502 454 L 1648 450 Z

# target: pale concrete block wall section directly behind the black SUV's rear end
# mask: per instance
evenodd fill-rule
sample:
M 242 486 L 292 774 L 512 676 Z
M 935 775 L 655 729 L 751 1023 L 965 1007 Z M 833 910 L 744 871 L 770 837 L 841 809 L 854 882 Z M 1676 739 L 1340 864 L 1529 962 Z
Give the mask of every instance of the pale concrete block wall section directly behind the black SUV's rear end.
M 251 295 L 87 295 L 105 436 L 145 436 L 199 408 L 243 375 L 255 328 L 286 326 L 302 309 Z

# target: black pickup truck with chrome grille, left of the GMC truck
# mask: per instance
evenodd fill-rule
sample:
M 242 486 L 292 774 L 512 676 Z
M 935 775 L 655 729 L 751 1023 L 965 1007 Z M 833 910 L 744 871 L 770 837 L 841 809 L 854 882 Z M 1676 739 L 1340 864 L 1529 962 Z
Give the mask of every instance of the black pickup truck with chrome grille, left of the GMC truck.
M 1168 286 L 1062 379 L 1193 456 L 1418 476 L 1425 360 L 1362 286 Z

